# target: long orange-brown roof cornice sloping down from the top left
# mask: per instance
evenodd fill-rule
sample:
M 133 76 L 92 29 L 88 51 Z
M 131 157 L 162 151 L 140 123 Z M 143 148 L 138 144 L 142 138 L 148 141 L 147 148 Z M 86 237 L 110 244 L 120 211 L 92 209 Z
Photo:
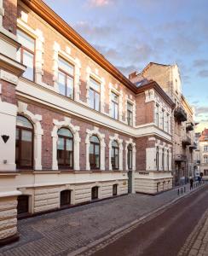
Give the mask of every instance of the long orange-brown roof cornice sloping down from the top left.
M 43 20 L 47 21 L 50 26 L 53 26 L 55 30 L 60 32 L 66 39 L 76 45 L 78 49 L 81 49 L 85 55 L 98 63 L 108 73 L 112 74 L 115 79 L 124 84 L 127 88 L 136 93 L 136 85 L 131 83 L 123 73 L 119 72 L 116 67 L 113 66 L 107 59 L 101 55 L 92 45 L 90 45 L 84 38 L 82 38 L 78 32 L 72 29 L 66 21 L 49 8 L 42 0 L 21 0 L 32 11 L 39 15 Z

